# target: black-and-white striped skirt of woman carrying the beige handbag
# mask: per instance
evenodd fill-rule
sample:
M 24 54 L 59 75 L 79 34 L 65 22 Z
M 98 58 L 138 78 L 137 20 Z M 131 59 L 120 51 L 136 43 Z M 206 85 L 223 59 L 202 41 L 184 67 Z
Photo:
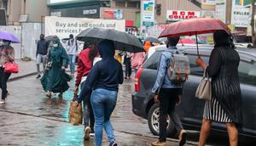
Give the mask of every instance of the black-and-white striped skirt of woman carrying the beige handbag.
M 207 101 L 204 108 L 204 119 L 217 122 L 232 122 L 229 115 L 226 114 L 221 104 L 218 103 L 216 98 L 212 98 L 210 101 Z

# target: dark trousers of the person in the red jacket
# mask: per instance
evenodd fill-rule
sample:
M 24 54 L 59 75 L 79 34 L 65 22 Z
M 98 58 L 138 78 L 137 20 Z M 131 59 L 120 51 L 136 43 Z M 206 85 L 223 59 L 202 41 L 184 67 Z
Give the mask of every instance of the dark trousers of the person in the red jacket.
M 83 87 L 84 82 L 82 82 L 81 87 Z M 90 126 L 91 131 L 94 132 L 95 119 L 94 119 L 93 110 L 92 110 L 92 107 L 90 104 L 90 95 L 91 95 L 91 93 L 86 95 L 86 97 L 84 97 L 84 101 L 83 101 L 83 104 L 84 104 L 84 112 L 83 112 L 84 128 L 86 126 Z

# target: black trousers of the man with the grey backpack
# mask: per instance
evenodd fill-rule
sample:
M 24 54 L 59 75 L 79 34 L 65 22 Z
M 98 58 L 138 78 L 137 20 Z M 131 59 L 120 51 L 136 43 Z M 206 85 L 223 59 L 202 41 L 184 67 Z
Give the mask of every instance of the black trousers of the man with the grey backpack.
M 178 102 L 178 95 L 182 95 L 182 88 L 161 88 L 160 89 L 160 142 L 166 142 L 166 126 L 168 123 L 166 121 L 167 115 L 170 116 L 170 120 L 173 121 L 177 132 L 183 129 L 181 121 L 175 112 L 175 107 Z

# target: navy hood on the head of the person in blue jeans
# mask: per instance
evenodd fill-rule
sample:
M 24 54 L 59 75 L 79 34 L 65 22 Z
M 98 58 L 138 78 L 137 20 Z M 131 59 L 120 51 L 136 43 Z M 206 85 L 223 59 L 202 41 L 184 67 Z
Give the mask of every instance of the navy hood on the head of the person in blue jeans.
M 113 41 L 103 40 L 98 45 L 99 53 L 102 59 L 113 58 L 114 55 L 114 45 Z

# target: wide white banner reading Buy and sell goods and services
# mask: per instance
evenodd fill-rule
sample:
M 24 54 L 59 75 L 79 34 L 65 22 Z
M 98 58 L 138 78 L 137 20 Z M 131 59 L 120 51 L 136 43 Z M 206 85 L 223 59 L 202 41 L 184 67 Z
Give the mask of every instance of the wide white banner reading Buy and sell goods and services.
M 79 35 L 86 28 L 99 27 L 125 32 L 125 20 L 101 20 L 69 17 L 45 17 L 45 36 L 67 38 Z

